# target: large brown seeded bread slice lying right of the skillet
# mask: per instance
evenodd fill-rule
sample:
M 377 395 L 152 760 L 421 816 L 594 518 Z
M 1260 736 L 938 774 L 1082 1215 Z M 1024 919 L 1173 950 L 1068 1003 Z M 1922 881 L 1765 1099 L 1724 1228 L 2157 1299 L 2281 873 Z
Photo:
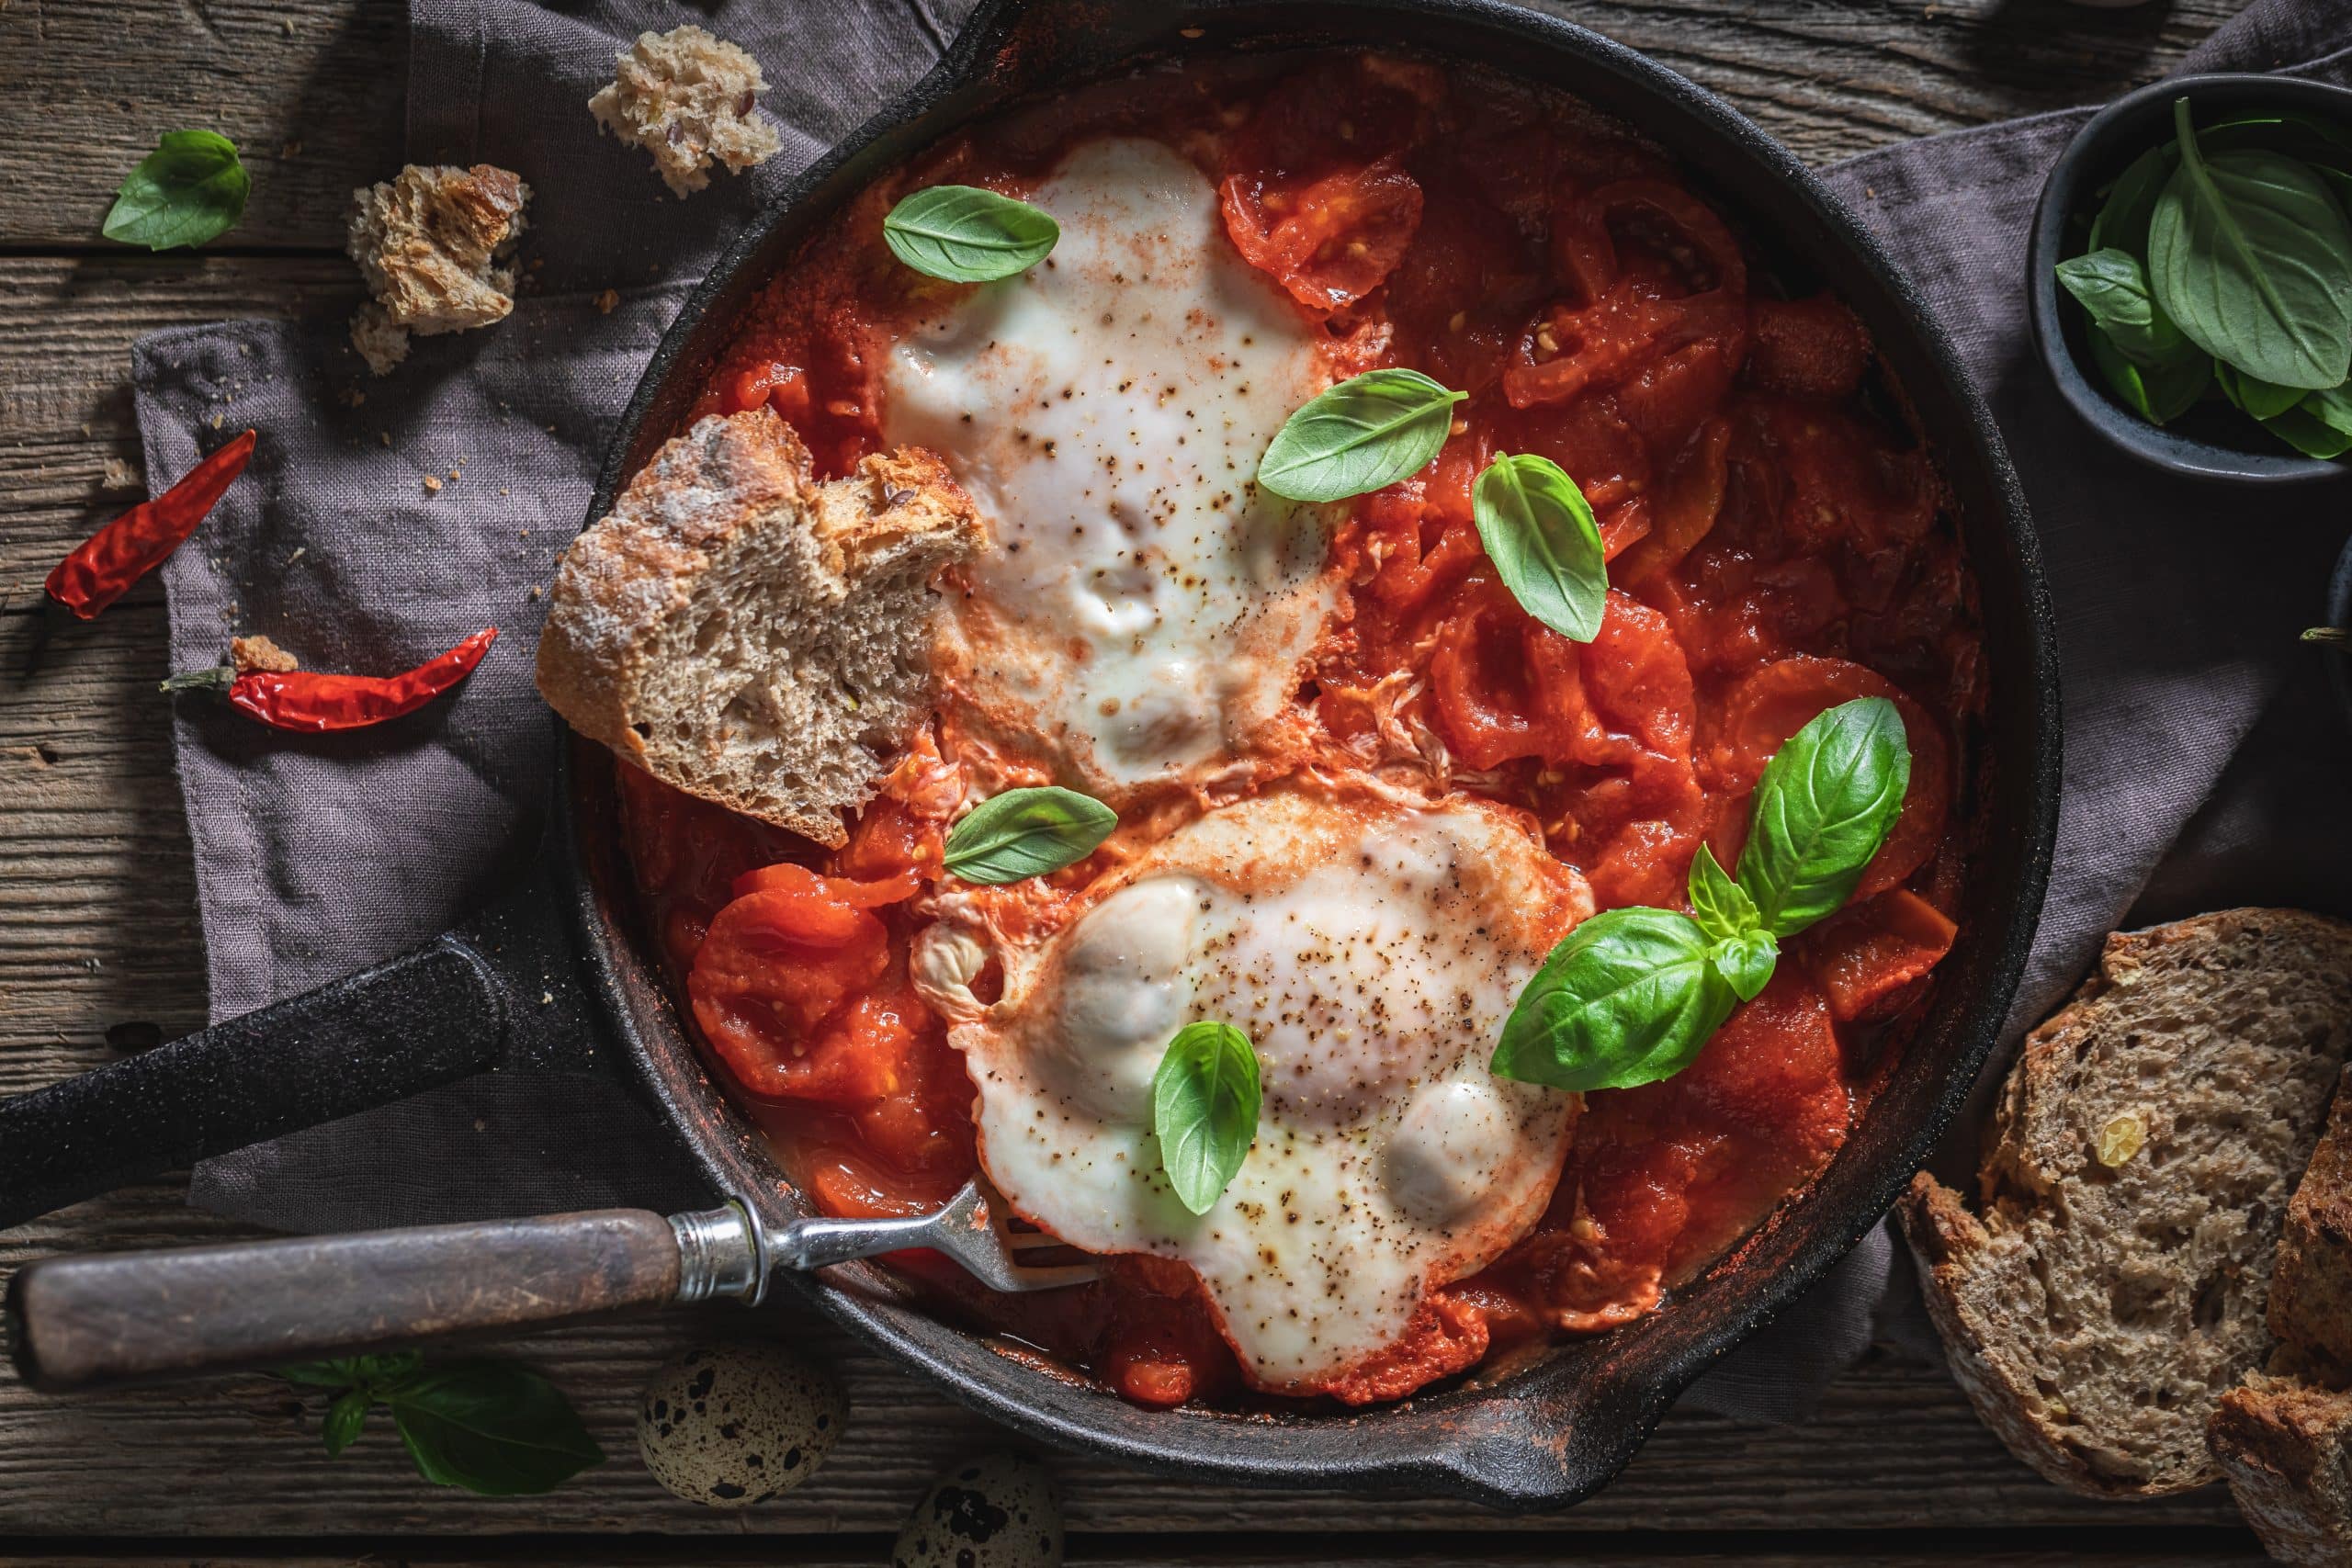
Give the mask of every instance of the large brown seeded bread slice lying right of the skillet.
M 2223 910 L 2107 938 L 2027 1039 L 1978 1220 L 1929 1175 L 1900 1204 L 1978 1415 L 2077 1493 L 2216 1479 L 2204 1427 L 2263 1366 L 2286 1201 L 2352 1048 L 2352 926 Z

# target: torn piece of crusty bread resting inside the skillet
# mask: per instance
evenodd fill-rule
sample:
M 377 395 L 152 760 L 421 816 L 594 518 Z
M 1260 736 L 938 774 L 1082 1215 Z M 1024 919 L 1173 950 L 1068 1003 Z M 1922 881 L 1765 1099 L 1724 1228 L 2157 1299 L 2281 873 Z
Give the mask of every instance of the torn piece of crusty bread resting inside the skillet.
M 978 543 L 929 451 L 818 484 L 771 409 L 703 418 L 564 552 L 539 691 L 656 778 L 840 846 L 922 719 L 931 578 Z

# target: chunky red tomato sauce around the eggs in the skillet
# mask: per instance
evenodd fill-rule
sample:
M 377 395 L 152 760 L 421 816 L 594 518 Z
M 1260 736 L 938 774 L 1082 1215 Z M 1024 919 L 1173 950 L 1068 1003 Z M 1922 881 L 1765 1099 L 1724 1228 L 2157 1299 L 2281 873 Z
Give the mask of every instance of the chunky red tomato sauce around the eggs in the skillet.
M 767 402 L 828 475 L 880 449 L 891 336 L 953 287 L 889 261 L 882 212 L 943 181 L 1021 195 L 1096 134 L 1157 136 L 1216 181 L 1225 237 L 1319 324 L 1336 376 L 1404 364 L 1470 395 L 1437 461 L 1331 536 L 1345 597 L 1298 703 L 1341 752 L 1371 766 L 1409 736 L 1454 790 L 1529 809 L 1599 907 L 1686 907 L 1691 856 L 1736 863 L 1790 733 L 1856 696 L 1903 715 L 1910 795 L 1849 907 L 1785 945 L 1693 1067 L 1588 1095 L 1538 1229 L 1336 1394 L 1397 1399 L 1501 1345 L 1630 1321 L 1823 1171 L 1952 945 L 1983 691 L 1940 480 L 1875 411 L 1860 322 L 1780 287 L 1637 134 L 1355 54 L 1084 87 L 934 148 L 767 287 L 696 416 Z M 1590 644 L 1486 562 L 1470 487 L 1498 454 L 1557 461 L 1595 508 L 1613 588 Z M 906 961 L 955 769 L 915 745 L 840 851 L 630 769 L 621 790 L 652 933 L 788 1173 L 828 1213 L 943 1201 L 974 1171 L 974 1091 Z M 1103 1284 L 995 1298 L 901 1262 L 1134 1401 L 1244 1399 L 1181 1265 L 1112 1258 Z

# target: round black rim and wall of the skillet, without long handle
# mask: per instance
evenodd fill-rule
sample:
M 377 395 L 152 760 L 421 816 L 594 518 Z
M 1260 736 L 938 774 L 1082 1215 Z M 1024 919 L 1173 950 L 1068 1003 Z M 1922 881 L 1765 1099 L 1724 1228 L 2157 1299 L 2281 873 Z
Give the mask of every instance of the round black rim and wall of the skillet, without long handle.
M 1679 115 L 1677 132 L 1689 132 L 1736 160 L 1757 165 L 1778 183 L 1780 195 L 1799 202 L 1823 247 L 1811 256 L 1813 261 L 1849 261 L 1860 268 L 1867 303 L 1882 317 L 1896 320 L 1903 350 L 1919 360 L 1919 369 L 1905 374 L 1900 383 L 1905 400 L 1917 407 L 1917 395 L 1929 390 L 1950 404 L 1947 421 L 1915 416 L 1915 423 L 1933 444 L 1938 470 L 1955 489 L 1955 512 L 1962 522 L 1964 552 L 1978 590 L 1983 592 L 1990 576 L 1987 562 L 2006 567 L 2004 595 L 2013 602 L 2004 602 L 1999 614 L 2009 621 L 2004 637 L 2011 661 L 2020 665 L 2011 672 L 2016 691 L 2006 693 L 2006 701 L 2013 703 L 2009 722 L 2018 733 L 1997 743 L 1987 741 L 1987 745 L 1994 745 L 1999 785 L 2009 799 L 2018 802 L 2020 816 L 2018 823 L 2004 823 L 2011 830 L 2004 839 L 2016 860 L 2006 877 L 2009 907 L 1997 919 L 1997 929 L 1985 931 L 1985 940 L 1971 952 L 1976 985 L 1966 987 L 1969 999 L 1950 1001 L 1957 1016 L 1950 1027 L 1955 1048 L 1940 1058 L 1940 1081 L 1931 1091 L 1922 1091 L 1929 1093 L 1924 1114 L 1910 1124 L 1907 1135 L 1886 1133 L 1893 1138 L 1893 1147 L 1877 1157 L 1870 1173 L 1846 1175 L 1849 1185 L 1858 1180 L 1860 1187 L 1844 1194 L 1842 1208 L 1825 1208 L 1820 1194 L 1849 1164 L 1844 1154 L 1804 1194 L 1783 1206 L 1762 1232 L 1736 1246 L 1700 1281 L 1677 1293 L 1668 1309 L 1609 1335 L 1555 1345 L 1531 1368 L 1496 1371 L 1491 1378 L 1475 1378 L 1468 1387 L 1338 1415 L 1232 1418 L 1138 1410 L 1070 1375 L 1042 1373 L 1035 1363 L 1000 1354 L 981 1335 L 943 1316 L 910 1309 L 891 1276 L 870 1265 L 840 1269 L 826 1281 L 788 1276 L 788 1284 L 858 1340 L 1030 1439 L 1115 1455 L 1192 1479 L 1423 1490 L 1498 1509 L 1566 1507 L 1604 1486 L 1635 1455 L 1691 1380 L 1769 1324 L 1879 1222 L 1957 1114 L 1999 1034 L 2049 882 L 2060 776 L 2056 616 L 2023 487 L 1992 425 L 1990 409 L 1936 329 L 1917 287 L 1863 228 L 1860 219 L 1811 169 L 1729 103 L 1609 38 L 1501 0 L 1192 0 L 1183 7 L 1160 5 L 1160 0 L 985 0 L 922 80 L 795 176 L 713 261 L 663 331 L 628 409 L 614 425 L 595 501 L 583 524 L 593 524 L 609 510 L 621 477 L 642 461 L 642 449 L 649 449 L 649 421 L 661 414 L 670 383 L 701 374 L 696 350 L 708 346 L 696 343 L 696 339 L 710 327 L 713 308 L 743 287 L 746 268 L 760 266 L 762 252 L 776 242 L 779 233 L 786 235 L 786 254 L 797 244 L 795 216 L 811 202 L 830 209 L 823 197 L 840 197 L 863 183 L 866 174 L 856 165 L 887 167 L 1035 89 L 1035 82 L 1016 82 L 1011 89 L 997 87 L 993 92 L 990 68 L 1007 68 L 1023 38 L 1035 45 L 1037 28 L 1049 26 L 1042 19 L 1058 14 L 1058 21 L 1070 26 L 1084 16 L 1094 26 L 1108 28 L 1105 19 L 1122 12 L 1150 12 L 1150 31 L 1162 42 L 1174 38 L 1178 26 L 1216 26 L 1235 14 L 1275 16 L 1287 24 L 1298 19 L 1310 33 L 1317 19 L 1327 16 L 1348 16 L 1374 26 L 1381 19 L 1404 16 L 1418 16 L 1416 26 L 1425 26 L 1430 19 L 1458 21 L 1484 28 L 1496 42 L 1529 47 L 1534 54 L 1526 56 L 1524 66 L 1505 66 L 1526 80 L 1595 101 L 1592 78 L 1602 78 L 1623 96 Z M 1261 26 L 1251 40 L 1270 35 L 1291 38 L 1282 26 Z M 1298 38 L 1296 42 L 1305 45 L 1308 40 Z M 1322 35 L 1322 42 L 1324 47 L 1381 47 L 1383 40 L 1357 33 Z M 1395 40 L 1388 47 L 1432 52 L 1463 63 L 1489 63 L 1468 49 L 1430 47 L 1425 40 Z M 1225 52 L 1240 49 L 1225 45 Z M 1091 63 L 1089 73 L 1120 71 L 1157 54 L 1162 54 L 1160 47 L 1122 47 L 1110 61 Z M 957 103 L 957 99 L 964 101 Z M 1604 113 L 1628 118 L 1609 103 L 1597 106 Z M 927 125 L 936 115 L 948 118 L 941 125 Z M 922 136 L 910 134 L 917 127 L 924 127 Z M 1653 134 L 1649 125 L 1637 129 Z M 894 141 L 906 146 L 891 150 Z M 1675 155 L 1686 172 L 1705 174 L 1689 153 L 1677 150 Z M 828 193 L 837 179 L 844 181 L 844 190 Z M 1736 202 L 1736 207 L 1743 209 L 1743 228 L 1752 237 L 1790 242 L 1783 233 L 1757 233 L 1757 223 L 1745 219 L 1748 205 Z M 1839 292 L 1856 308 L 1865 303 L 1846 284 Z M 1865 310 L 1865 315 L 1870 313 Z M 710 331 L 724 341 L 727 322 Z M 1922 369 L 1926 383 L 1922 383 Z M 1978 491 L 1976 505 L 1962 505 L 1957 480 L 1964 465 Z M 1999 550 L 2006 555 L 1987 555 Z M 1985 602 L 1983 611 L 1990 649 L 1994 604 Z M 1987 724 L 1994 717 L 1987 703 Z M 739 1192 L 767 1213 L 788 1213 L 793 1204 L 786 1197 L 781 1173 L 764 1150 L 755 1147 L 748 1121 L 710 1084 L 701 1058 L 675 1027 L 666 987 L 659 976 L 647 973 L 649 966 L 635 952 L 628 917 L 607 896 L 607 889 L 616 886 L 609 879 L 616 863 L 614 835 L 588 830 L 597 825 L 600 816 L 609 818 L 609 788 L 602 790 L 600 799 L 597 788 L 588 783 L 595 766 L 583 769 L 581 752 L 574 750 L 588 743 L 572 738 L 560 719 L 553 722 L 562 743 L 557 745 L 555 820 L 550 827 L 553 835 L 562 837 L 557 851 L 564 870 L 562 900 L 579 926 L 588 985 L 597 992 L 614 1032 L 628 1044 L 644 1088 L 706 1175 L 720 1190 Z M 2002 799 L 1983 802 L 1978 806 L 1980 827 L 1990 825 L 1999 809 Z M 1990 875 L 1980 877 L 1990 856 L 1992 846 L 1978 844 L 1971 884 L 1990 882 Z M 1978 926 L 1973 917 L 1969 924 Z M 1938 992 L 1931 1009 L 1936 1018 L 1947 1006 L 1943 997 L 1964 990 L 1957 980 L 1959 976 Z M 1863 1143 L 1865 1128 L 1872 1128 L 1875 1121 L 1879 1121 L 1875 1114 L 1865 1114 L 1856 1124 L 1849 1150 Z M 1691 1316 L 1696 1307 L 1689 1302 L 1700 1284 L 1712 1286 L 1717 1276 L 1738 1272 L 1740 1260 L 1759 1251 L 1766 1237 L 1795 1229 L 1797 1215 L 1813 1222 L 1813 1234 L 1790 1244 L 1795 1255 L 1773 1265 L 1752 1286 L 1733 1281 L 1733 1286 L 1750 1286 L 1745 1291 L 1712 1288 L 1708 1295 L 1717 1305 L 1715 1324 Z M 1738 1305 L 1724 1309 L 1726 1295 L 1738 1295 Z M 1686 1321 L 1691 1326 L 1684 1331 Z M 1675 1345 L 1677 1333 L 1682 1345 Z M 1665 1345 L 1661 1347 L 1658 1340 Z M 1599 1349 L 1585 1354 L 1592 1347 Z M 1637 1361 L 1630 1373 L 1616 1366 L 1625 1359 Z M 1578 1371 L 1585 1375 L 1578 1378 Z

